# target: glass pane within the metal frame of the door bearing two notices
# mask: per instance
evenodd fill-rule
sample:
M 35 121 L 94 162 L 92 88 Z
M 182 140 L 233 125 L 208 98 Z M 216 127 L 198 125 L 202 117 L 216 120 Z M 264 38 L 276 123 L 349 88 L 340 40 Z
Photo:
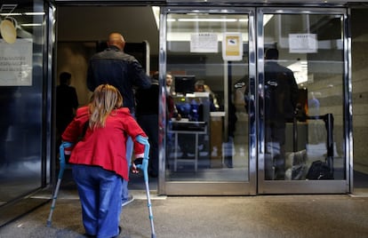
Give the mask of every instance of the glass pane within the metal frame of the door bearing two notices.
M 247 15 L 169 13 L 166 37 L 166 181 L 248 181 Z

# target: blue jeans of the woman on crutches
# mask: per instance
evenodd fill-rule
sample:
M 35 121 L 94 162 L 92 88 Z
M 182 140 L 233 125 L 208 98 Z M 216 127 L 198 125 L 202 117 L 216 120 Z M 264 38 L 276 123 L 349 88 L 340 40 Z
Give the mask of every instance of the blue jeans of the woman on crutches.
M 99 238 L 119 234 L 124 179 L 99 166 L 74 164 L 72 171 L 86 234 Z

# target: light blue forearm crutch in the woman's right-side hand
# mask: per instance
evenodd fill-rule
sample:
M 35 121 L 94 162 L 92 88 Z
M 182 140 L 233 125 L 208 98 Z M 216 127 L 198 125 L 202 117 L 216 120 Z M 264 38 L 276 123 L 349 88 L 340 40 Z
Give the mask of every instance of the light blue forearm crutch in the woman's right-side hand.
M 148 138 L 138 136 L 137 141 L 140 142 L 140 144 L 144 145 L 144 158 L 141 164 L 137 164 L 137 168 L 143 171 L 144 175 L 144 183 L 146 185 L 146 194 L 147 194 L 147 206 L 148 206 L 148 214 L 149 214 L 149 221 L 151 223 L 151 237 L 156 238 L 155 234 L 155 227 L 153 223 L 153 214 L 152 214 L 152 205 L 151 205 L 151 199 L 149 196 L 149 186 L 148 186 L 148 160 L 149 160 L 149 143 Z

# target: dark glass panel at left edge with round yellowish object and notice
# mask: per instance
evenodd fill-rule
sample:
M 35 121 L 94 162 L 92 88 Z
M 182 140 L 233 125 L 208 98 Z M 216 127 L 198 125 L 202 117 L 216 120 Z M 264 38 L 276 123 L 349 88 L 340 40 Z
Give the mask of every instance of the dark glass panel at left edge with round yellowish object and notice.
M 44 3 L 0 4 L 0 205 L 41 186 Z

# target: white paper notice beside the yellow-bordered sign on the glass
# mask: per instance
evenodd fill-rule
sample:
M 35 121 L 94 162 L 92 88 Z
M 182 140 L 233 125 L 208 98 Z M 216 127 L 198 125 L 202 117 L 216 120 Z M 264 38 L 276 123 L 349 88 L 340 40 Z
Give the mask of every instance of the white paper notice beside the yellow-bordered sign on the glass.
M 196 33 L 190 36 L 190 52 L 219 52 L 217 34 Z

